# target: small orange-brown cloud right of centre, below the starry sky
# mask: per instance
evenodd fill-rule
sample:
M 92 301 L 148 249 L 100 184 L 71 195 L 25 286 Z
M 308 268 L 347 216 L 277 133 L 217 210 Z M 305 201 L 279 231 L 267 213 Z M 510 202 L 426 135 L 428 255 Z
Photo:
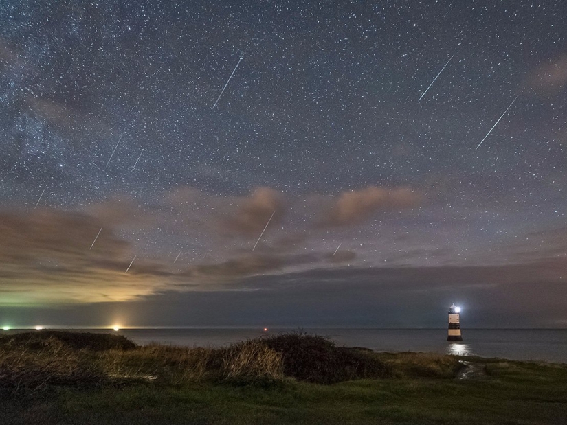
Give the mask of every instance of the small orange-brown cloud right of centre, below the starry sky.
M 370 186 L 365 189 L 342 192 L 331 211 L 320 222 L 322 226 L 358 224 L 378 211 L 406 209 L 416 206 L 420 196 L 408 188 L 386 189 Z

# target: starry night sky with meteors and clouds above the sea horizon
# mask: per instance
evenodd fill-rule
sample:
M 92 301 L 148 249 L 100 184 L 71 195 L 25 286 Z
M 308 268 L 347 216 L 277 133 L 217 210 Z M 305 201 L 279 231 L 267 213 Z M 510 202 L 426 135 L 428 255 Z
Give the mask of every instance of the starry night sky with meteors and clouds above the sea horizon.
M 3 1 L 0 324 L 565 328 L 566 153 L 563 1 Z

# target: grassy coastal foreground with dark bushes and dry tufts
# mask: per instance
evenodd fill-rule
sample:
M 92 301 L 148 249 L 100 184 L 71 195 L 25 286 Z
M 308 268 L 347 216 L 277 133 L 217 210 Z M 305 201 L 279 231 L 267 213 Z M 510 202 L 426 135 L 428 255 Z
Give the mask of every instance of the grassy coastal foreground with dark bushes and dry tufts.
M 459 379 L 465 366 L 476 368 Z M 0 337 L 1 424 L 567 424 L 567 365 L 337 347 L 222 349 L 116 335 Z

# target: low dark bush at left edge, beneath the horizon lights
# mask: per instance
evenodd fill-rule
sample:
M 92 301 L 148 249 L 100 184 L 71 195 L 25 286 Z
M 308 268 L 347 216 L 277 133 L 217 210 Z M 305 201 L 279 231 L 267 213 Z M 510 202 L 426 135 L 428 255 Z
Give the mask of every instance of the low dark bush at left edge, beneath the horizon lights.
M 91 332 L 66 332 L 60 330 L 39 330 L 0 337 L 0 348 L 25 345 L 29 349 L 43 349 L 50 339 L 56 339 L 73 349 L 103 351 L 107 349 L 133 349 L 135 343 L 126 336 L 113 334 L 93 334 Z

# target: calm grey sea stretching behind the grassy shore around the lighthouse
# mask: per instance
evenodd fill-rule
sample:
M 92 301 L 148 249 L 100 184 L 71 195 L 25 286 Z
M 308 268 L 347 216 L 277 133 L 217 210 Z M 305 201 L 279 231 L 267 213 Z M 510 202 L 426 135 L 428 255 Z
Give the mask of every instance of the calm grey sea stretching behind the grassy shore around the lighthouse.
M 88 330 L 121 334 L 138 345 L 152 342 L 184 347 L 222 347 L 286 332 L 326 336 L 346 347 L 379 352 L 434 352 L 460 356 L 567 363 L 567 329 L 467 329 L 462 343 L 449 343 L 446 329 L 123 329 Z

